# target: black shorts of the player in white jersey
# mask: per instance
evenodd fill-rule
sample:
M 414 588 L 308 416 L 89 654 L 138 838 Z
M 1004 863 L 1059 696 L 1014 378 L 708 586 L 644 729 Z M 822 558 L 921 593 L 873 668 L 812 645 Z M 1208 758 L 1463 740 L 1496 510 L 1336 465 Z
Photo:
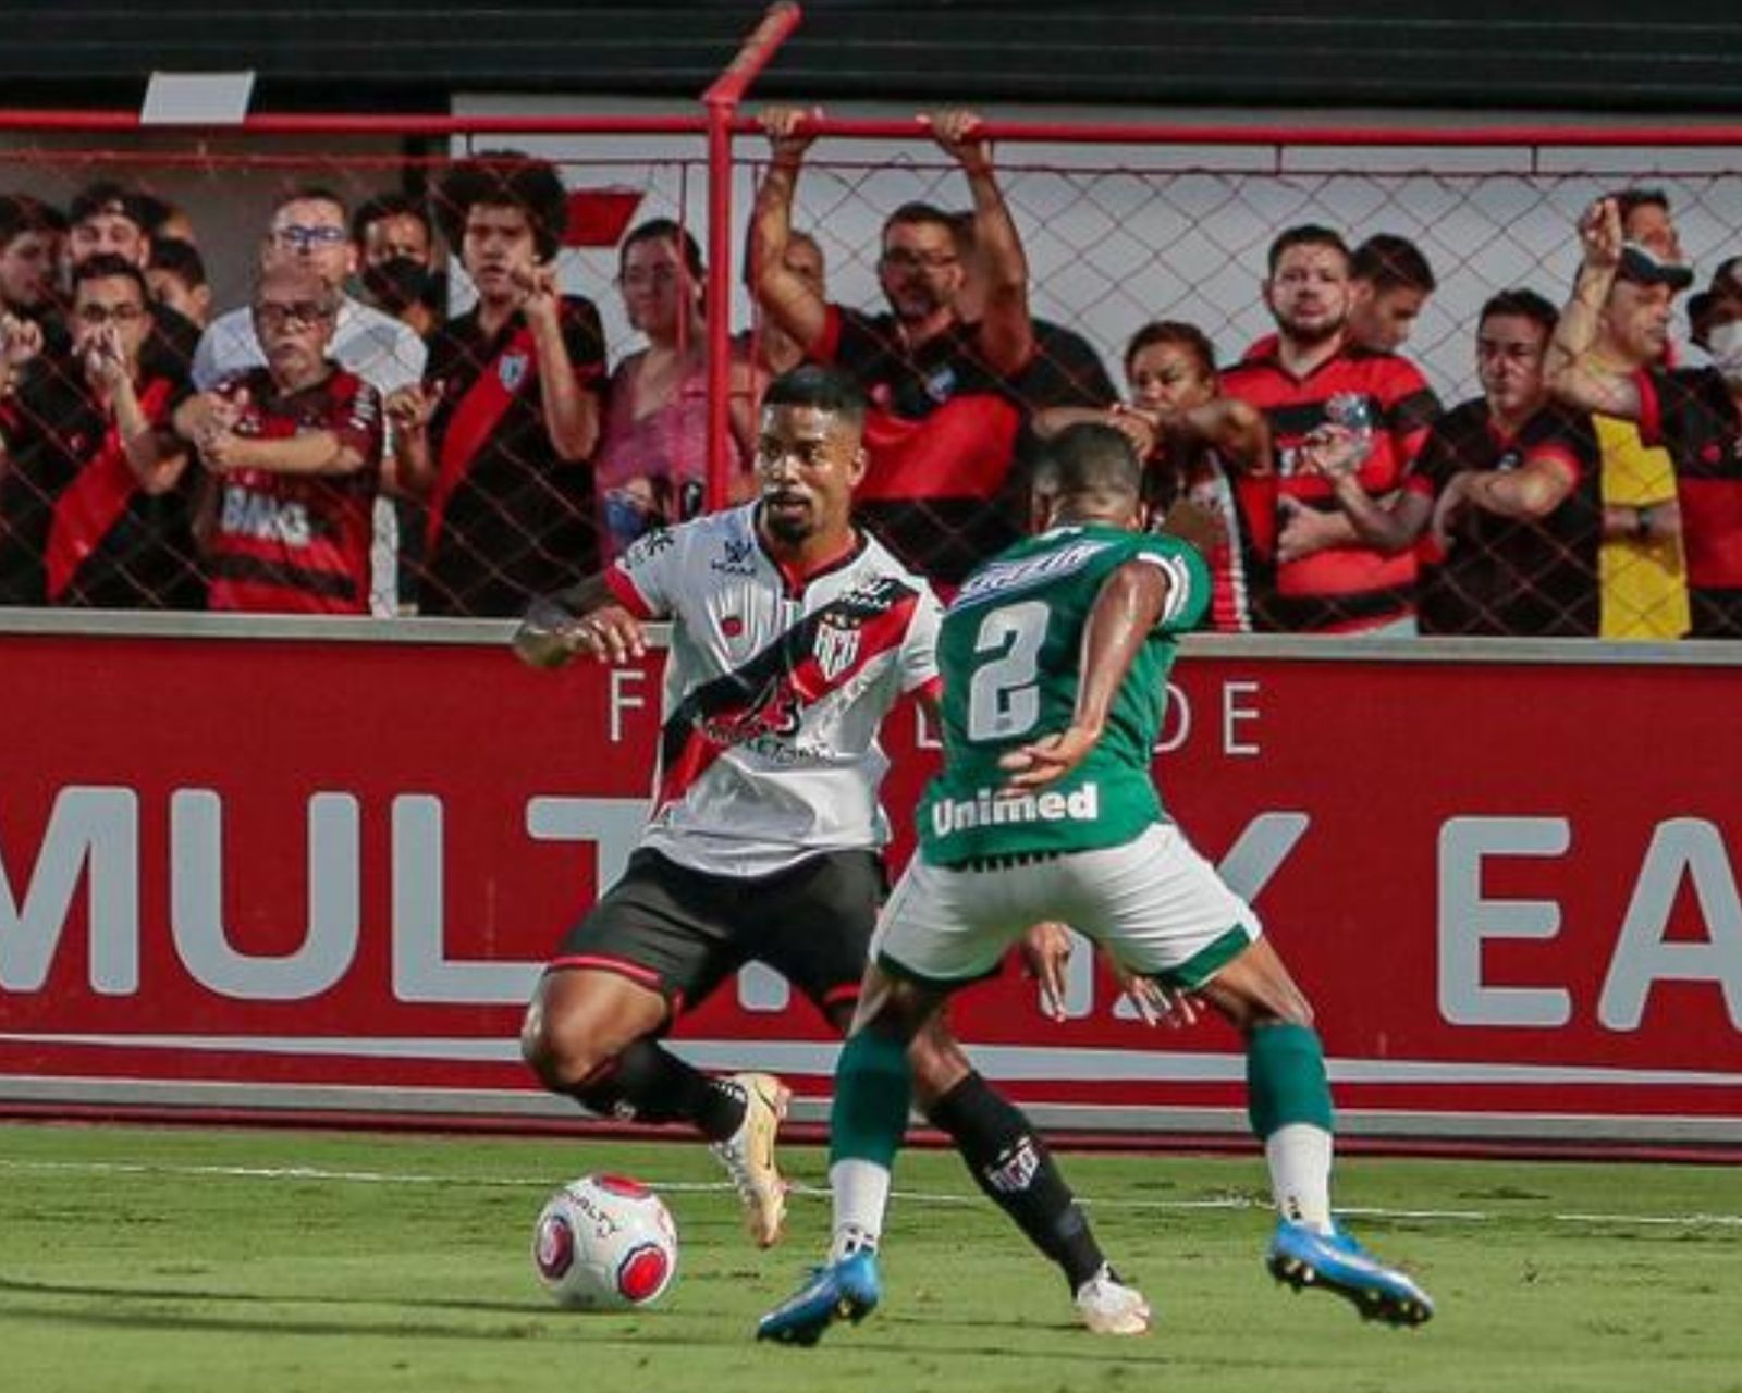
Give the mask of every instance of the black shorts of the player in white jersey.
M 819 1010 L 855 1001 L 888 893 L 874 851 L 822 851 L 773 876 L 709 876 L 641 850 L 564 937 L 550 968 L 617 972 L 658 991 L 672 1019 L 749 961 Z

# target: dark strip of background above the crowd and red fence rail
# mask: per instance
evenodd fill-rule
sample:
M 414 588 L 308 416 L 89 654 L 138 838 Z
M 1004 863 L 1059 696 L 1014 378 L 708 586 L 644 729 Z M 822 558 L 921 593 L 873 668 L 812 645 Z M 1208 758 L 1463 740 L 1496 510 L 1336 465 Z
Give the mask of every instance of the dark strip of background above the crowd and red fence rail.
M 758 96 L 1728 110 L 1728 3 L 808 0 Z M 10 104 L 132 106 L 152 70 L 254 70 L 256 110 L 439 110 L 463 89 L 693 98 L 754 3 L 10 3 Z

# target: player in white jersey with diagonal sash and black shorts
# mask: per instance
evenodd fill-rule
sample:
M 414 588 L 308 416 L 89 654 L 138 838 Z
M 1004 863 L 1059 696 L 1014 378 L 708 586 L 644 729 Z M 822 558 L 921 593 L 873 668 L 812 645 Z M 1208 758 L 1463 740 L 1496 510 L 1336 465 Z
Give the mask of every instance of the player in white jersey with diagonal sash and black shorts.
M 528 1064 L 556 1094 L 711 1142 L 763 1247 L 786 1186 L 773 1141 L 786 1088 L 711 1078 L 660 1045 L 678 1015 L 751 959 L 845 1033 L 885 881 L 876 733 L 904 691 L 935 700 L 937 602 L 852 522 L 866 400 L 798 367 L 763 397 L 760 498 L 652 533 L 608 571 L 528 613 L 523 658 L 620 662 L 671 622 L 653 817 L 624 878 L 568 933 L 526 1015 Z M 1118 1282 L 1028 1120 L 941 1027 L 916 1033 L 920 1106 L 976 1182 L 1059 1264 L 1080 1318 L 1141 1334 Z

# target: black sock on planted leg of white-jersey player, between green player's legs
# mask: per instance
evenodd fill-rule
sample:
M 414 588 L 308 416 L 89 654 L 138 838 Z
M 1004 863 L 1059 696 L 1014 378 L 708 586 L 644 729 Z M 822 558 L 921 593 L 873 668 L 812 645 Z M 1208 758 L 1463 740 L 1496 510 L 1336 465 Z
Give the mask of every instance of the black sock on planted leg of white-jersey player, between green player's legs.
M 1101 1271 L 1106 1257 L 1052 1153 L 1028 1118 L 969 1074 L 930 1109 L 934 1127 L 949 1134 L 974 1182 L 1028 1235 L 1028 1242 L 1059 1264 L 1075 1292 Z

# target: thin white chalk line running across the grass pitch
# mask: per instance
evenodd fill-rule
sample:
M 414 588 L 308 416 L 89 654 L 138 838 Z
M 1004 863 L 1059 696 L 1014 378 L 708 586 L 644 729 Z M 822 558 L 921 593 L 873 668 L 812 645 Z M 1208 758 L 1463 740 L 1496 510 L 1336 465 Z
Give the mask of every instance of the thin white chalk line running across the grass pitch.
M 378 1186 L 484 1186 L 490 1189 L 545 1189 L 557 1181 L 549 1175 L 425 1175 L 390 1170 L 329 1170 L 326 1167 L 265 1167 L 265 1165 L 148 1165 L 145 1161 L 26 1161 L 0 1156 L 0 1172 L 73 1172 L 85 1175 L 214 1175 L 235 1181 L 338 1181 Z M 730 1193 L 726 1181 L 646 1181 L 652 1189 L 674 1194 Z M 826 1186 L 794 1184 L 791 1194 L 808 1200 L 826 1200 Z M 979 1194 L 946 1194 L 922 1189 L 897 1189 L 894 1198 L 918 1205 L 977 1205 Z M 1242 1194 L 1225 1194 L 1211 1200 L 1090 1200 L 1078 1196 L 1087 1208 L 1124 1208 L 1157 1212 L 1192 1210 L 1247 1210 L 1268 1208 L 1261 1200 Z M 1406 1219 L 1430 1222 L 1486 1224 L 1505 1215 L 1479 1208 L 1381 1208 L 1371 1205 L 1338 1205 L 1338 1214 L 1367 1219 Z M 1542 1215 L 1526 1215 L 1542 1217 Z M 1742 1229 L 1742 1214 L 1550 1214 L 1557 1224 L 1639 1224 L 1646 1228 L 1733 1228 Z

